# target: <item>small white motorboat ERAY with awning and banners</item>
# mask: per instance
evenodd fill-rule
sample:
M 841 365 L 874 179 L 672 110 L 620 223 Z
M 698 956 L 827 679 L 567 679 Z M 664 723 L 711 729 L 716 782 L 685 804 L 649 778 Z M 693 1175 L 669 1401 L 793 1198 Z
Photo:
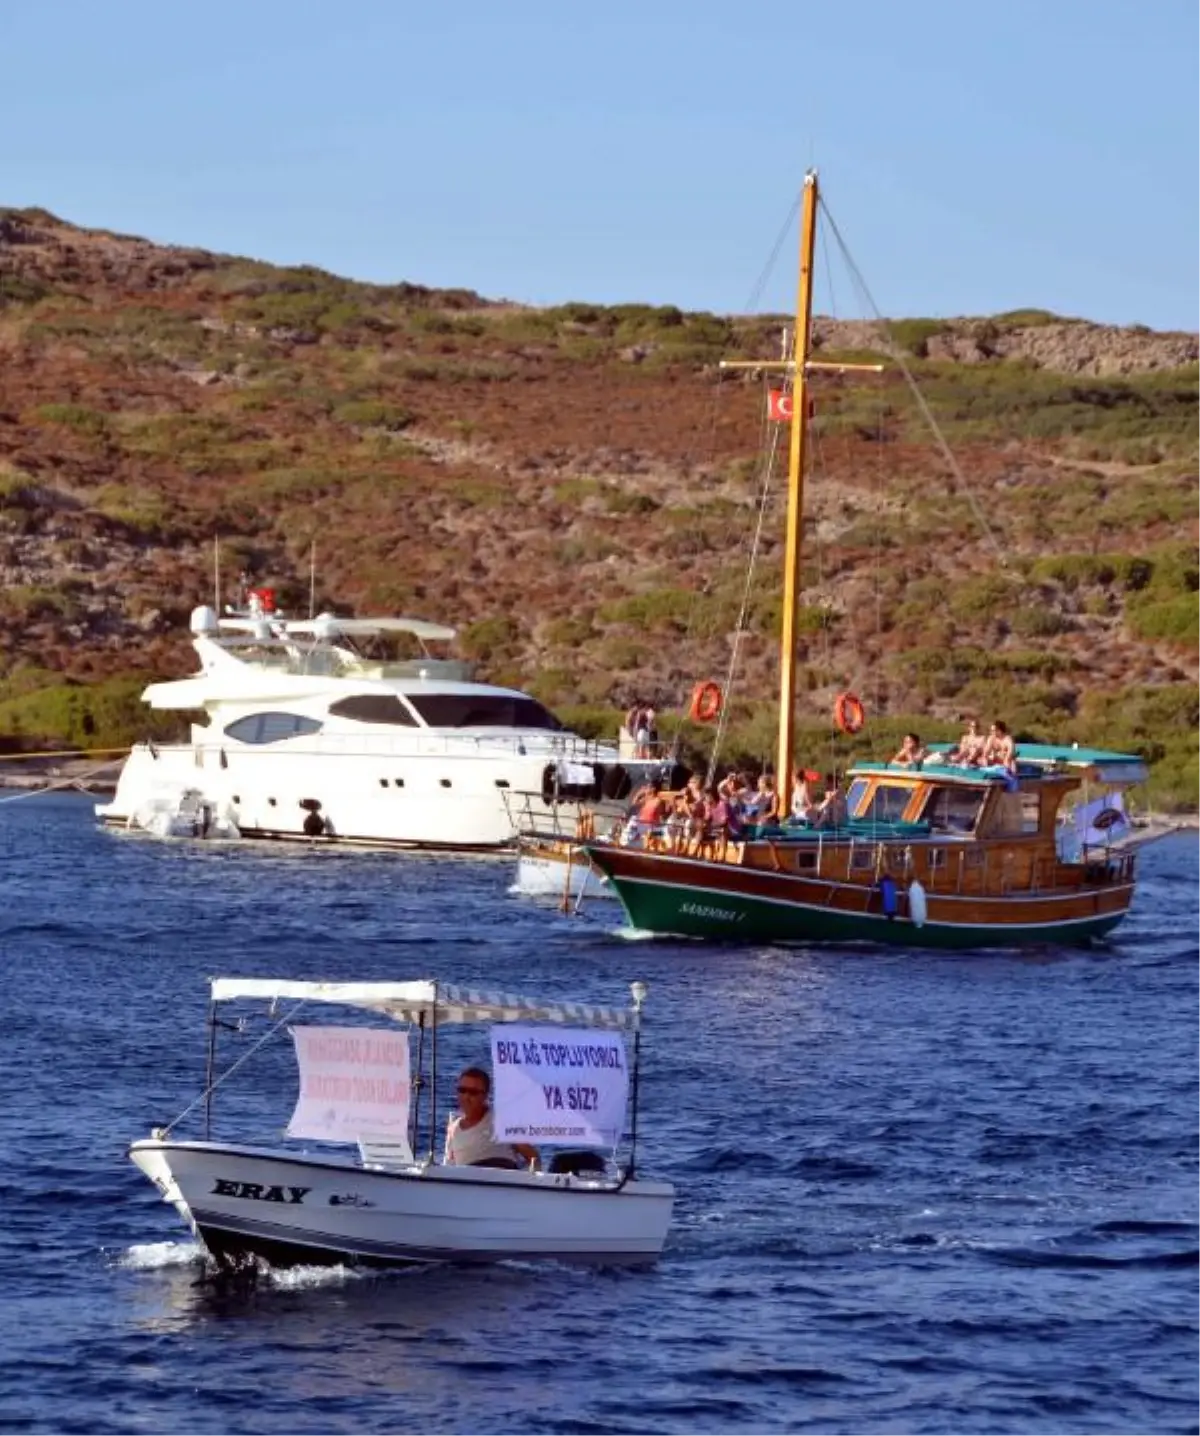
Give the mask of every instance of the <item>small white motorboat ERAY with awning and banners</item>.
M 204 1140 L 172 1136 L 172 1123 L 135 1142 L 129 1156 L 221 1269 L 533 1258 L 646 1265 L 660 1255 L 675 1188 L 636 1170 L 643 984 L 633 984 L 630 1008 L 433 981 L 215 978 L 211 997 L 208 1080 L 177 1119 L 202 1106 Z M 251 1055 L 215 1076 L 217 1034 L 231 1025 L 217 1012 L 237 999 L 271 1004 L 274 1021 L 251 1051 L 291 1031 L 300 1097 L 286 1134 L 316 1139 L 317 1149 L 212 1140 L 214 1088 Z M 398 1025 L 294 1022 L 317 1004 Z M 497 1140 L 560 1149 L 541 1169 L 435 1160 L 438 1032 L 451 1022 L 491 1024 Z

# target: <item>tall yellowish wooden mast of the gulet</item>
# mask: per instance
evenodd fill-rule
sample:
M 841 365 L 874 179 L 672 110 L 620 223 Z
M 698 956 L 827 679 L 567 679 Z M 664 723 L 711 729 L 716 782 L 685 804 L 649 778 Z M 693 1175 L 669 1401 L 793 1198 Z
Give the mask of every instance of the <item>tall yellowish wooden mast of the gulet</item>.
M 788 451 L 788 523 L 784 550 L 784 626 L 779 635 L 779 742 L 775 787 L 791 801 L 795 728 L 795 630 L 800 610 L 800 554 L 804 530 L 804 458 L 808 438 L 808 350 L 812 332 L 812 256 L 817 246 L 817 171 L 804 177 L 800 220 L 800 284 L 792 348 L 792 425 Z

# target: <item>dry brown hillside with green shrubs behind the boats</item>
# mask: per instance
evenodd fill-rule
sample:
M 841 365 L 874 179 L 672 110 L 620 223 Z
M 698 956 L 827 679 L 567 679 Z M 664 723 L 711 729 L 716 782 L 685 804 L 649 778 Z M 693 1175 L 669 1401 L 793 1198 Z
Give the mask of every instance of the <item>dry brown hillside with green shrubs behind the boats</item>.
M 131 695 L 189 671 L 214 537 L 293 610 L 316 544 L 319 606 L 455 623 L 560 708 L 678 709 L 726 671 L 756 523 L 762 381 L 716 365 L 774 356 L 782 323 L 527 309 L 0 211 L 0 734 L 145 728 Z M 1200 336 L 1036 310 L 817 336 L 906 358 L 970 494 L 896 365 L 818 379 L 814 722 L 845 686 L 929 731 L 1003 712 L 1137 742 L 1200 800 Z M 778 488 L 738 685 L 764 752 Z

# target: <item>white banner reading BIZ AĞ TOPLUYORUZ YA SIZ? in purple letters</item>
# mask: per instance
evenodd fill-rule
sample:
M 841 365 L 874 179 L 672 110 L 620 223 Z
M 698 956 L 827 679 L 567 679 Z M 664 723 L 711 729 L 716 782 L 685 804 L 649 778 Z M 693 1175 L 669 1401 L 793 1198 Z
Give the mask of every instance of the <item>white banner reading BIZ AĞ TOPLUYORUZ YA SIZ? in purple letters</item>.
M 504 1022 L 491 1037 L 497 1142 L 617 1144 L 629 1097 L 620 1032 Z

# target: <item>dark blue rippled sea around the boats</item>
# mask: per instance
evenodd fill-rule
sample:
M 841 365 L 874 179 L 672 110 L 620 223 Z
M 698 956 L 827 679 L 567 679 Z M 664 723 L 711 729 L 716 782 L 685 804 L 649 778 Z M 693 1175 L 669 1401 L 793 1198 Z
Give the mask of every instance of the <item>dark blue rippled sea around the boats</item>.
M 630 942 L 505 862 L 159 843 L 73 796 L 0 804 L 0 857 L 6 1430 L 1200 1432 L 1196 839 L 1112 946 L 967 958 Z M 125 1147 L 200 1091 L 214 974 L 643 978 L 662 1264 L 198 1281 Z

